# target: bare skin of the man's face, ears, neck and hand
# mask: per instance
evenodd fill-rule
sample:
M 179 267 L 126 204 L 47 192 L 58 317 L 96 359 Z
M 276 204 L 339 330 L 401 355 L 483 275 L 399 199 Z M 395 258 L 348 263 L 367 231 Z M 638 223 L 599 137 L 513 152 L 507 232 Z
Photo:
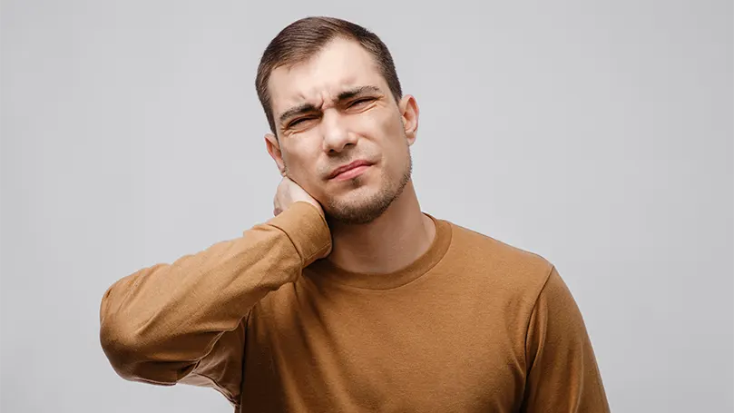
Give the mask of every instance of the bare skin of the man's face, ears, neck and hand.
M 274 213 L 309 202 L 328 221 L 328 260 L 345 270 L 385 273 L 423 254 L 436 235 L 411 179 L 418 106 L 396 102 L 377 64 L 351 40 L 335 39 L 308 61 L 275 69 L 269 79 L 277 136 L 265 135 L 283 176 Z M 332 179 L 357 160 L 358 176 Z

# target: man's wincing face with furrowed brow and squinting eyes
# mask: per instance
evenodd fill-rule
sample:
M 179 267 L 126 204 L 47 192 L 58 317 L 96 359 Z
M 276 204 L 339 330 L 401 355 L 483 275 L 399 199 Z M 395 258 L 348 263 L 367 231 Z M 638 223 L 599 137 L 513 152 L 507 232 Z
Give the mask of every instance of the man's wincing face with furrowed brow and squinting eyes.
M 396 103 L 371 54 L 336 39 L 275 69 L 269 93 L 279 138 L 267 137 L 269 152 L 329 219 L 367 223 L 387 210 L 410 180 L 418 110 L 409 95 Z

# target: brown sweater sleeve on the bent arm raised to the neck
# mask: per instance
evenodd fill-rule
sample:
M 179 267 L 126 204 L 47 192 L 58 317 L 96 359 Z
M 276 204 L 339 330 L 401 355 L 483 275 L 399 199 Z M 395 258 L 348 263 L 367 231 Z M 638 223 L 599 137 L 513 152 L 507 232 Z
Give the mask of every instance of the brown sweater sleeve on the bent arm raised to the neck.
M 295 202 L 240 238 L 138 270 L 103 295 L 103 351 L 123 379 L 215 388 L 237 406 L 250 309 L 330 248 L 323 217 Z

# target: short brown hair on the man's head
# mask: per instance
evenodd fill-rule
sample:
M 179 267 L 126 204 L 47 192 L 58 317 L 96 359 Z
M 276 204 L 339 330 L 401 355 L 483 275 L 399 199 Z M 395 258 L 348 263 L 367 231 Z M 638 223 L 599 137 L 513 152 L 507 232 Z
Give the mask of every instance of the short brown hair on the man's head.
M 279 66 L 298 64 L 308 60 L 329 41 L 337 37 L 354 40 L 372 54 L 390 92 L 393 93 L 396 101 L 400 100 L 403 92 L 392 55 L 377 34 L 361 25 L 335 17 L 305 17 L 286 26 L 270 41 L 258 66 L 255 88 L 272 133 L 278 134 L 268 91 L 268 81 L 272 71 Z

